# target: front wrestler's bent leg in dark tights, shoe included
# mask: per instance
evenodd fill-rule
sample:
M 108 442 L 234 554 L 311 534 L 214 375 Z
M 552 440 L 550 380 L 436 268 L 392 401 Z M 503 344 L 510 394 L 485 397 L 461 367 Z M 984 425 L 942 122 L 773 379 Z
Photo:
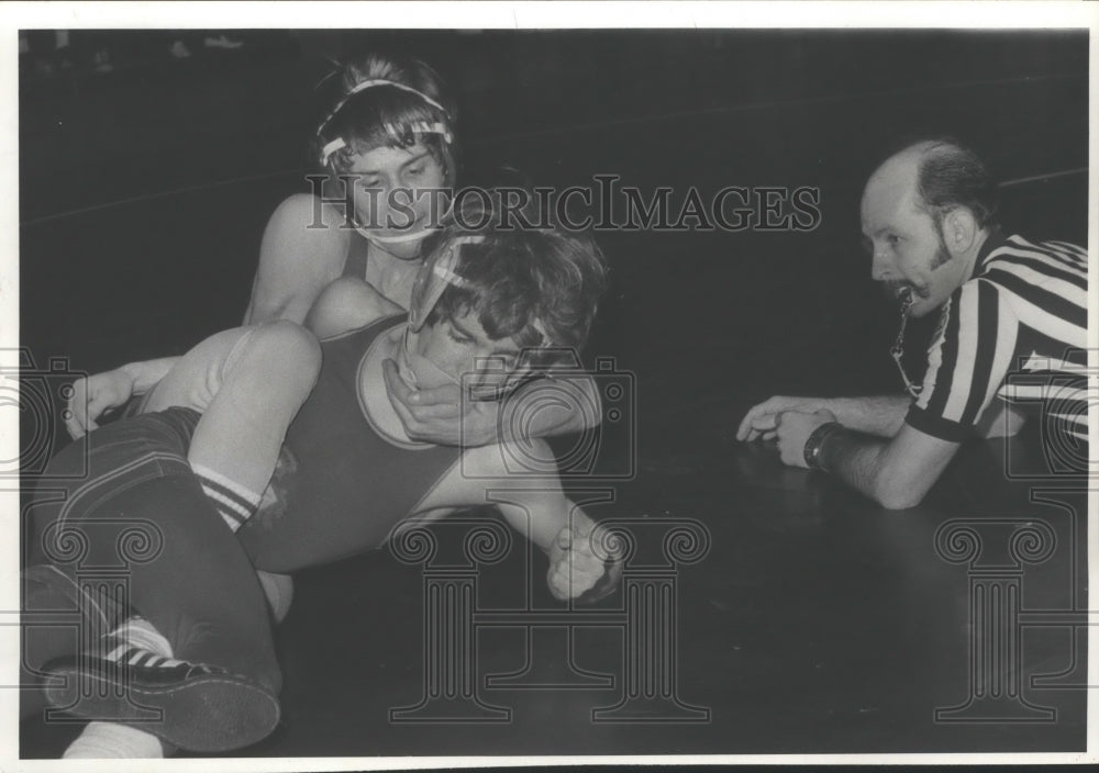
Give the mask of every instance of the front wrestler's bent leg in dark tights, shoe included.
M 123 699 L 102 698 L 111 690 L 93 691 L 99 701 L 78 699 L 88 697 L 75 692 L 81 680 L 109 686 L 121 679 L 118 668 L 101 668 L 104 643 L 91 659 L 54 661 L 60 665 L 47 671 L 67 680 L 54 680 L 51 703 L 81 716 L 112 710 L 121 721 L 132 718 L 134 703 L 153 706 L 163 720 L 144 729 L 184 749 L 223 751 L 270 732 L 281 675 L 255 571 L 186 461 L 197 422 L 195 412 L 173 408 L 89 436 L 89 475 L 68 485 L 65 496 L 43 495 L 43 504 L 32 507 L 27 575 L 34 587 L 25 600 L 26 625 L 33 626 L 36 608 L 56 609 L 65 597 L 70 608 L 93 610 L 97 630 L 116 625 L 132 607 L 168 639 L 176 660 L 131 660 Z M 82 463 L 82 452 L 79 445 L 63 450 L 49 472 Z M 81 571 L 120 560 L 129 604 L 81 600 Z M 29 636 L 27 671 L 41 673 L 47 658 L 71 650 L 76 640 L 71 626 L 60 636 Z

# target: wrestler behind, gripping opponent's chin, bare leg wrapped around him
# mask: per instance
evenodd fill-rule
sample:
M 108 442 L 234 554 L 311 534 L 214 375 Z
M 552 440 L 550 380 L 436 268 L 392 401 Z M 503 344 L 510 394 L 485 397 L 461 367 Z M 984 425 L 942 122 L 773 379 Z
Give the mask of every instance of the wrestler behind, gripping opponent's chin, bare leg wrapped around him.
M 312 388 L 307 369 L 277 382 L 265 370 L 270 356 L 315 346 L 292 323 L 303 323 L 334 282 L 329 305 L 353 304 L 370 316 L 408 309 L 423 242 L 453 201 L 456 109 L 439 75 L 419 60 L 369 54 L 343 67 L 338 77 L 340 96 L 314 136 L 326 193 L 323 200 L 292 195 L 271 215 L 245 314 L 252 328 L 233 339 L 232 356 L 132 362 L 78 380 L 67 406 L 66 426 L 74 437 L 95 428 L 104 411 L 123 405 L 126 413 L 198 410 L 203 418 L 188 460 L 230 522 L 255 512 L 286 427 Z M 165 383 L 173 368 L 176 373 Z M 395 376 L 387 379 L 389 391 L 414 439 L 452 446 L 500 439 L 495 402 L 463 401 L 453 384 L 431 389 Z M 584 410 L 598 404 L 593 382 L 580 379 L 575 386 L 575 400 L 563 395 L 574 401 L 571 410 L 540 412 L 525 432 L 546 437 L 598 422 L 598 412 Z M 252 400 L 259 390 L 267 395 L 263 406 Z M 267 580 L 288 597 L 286 580 Z

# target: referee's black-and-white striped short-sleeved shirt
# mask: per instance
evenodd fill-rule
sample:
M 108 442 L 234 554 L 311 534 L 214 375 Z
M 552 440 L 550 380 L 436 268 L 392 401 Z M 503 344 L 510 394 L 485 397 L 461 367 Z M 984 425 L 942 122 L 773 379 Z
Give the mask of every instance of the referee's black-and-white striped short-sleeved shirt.
M 961 442 L 999 395 L 1045 403 L 1046 421 L 1087 441 L 1087 272 L 1076 245 L 989 236 L 943 306 L 906 422 Z

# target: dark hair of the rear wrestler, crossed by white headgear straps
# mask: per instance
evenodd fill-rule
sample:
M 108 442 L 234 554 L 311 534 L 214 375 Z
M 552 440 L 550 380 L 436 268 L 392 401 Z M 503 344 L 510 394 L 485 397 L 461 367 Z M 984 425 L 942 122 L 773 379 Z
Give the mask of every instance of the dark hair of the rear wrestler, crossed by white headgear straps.
M 345 64 L 340 72 L 341 89 L 335 104 L 344 102 L 321 123 L 314 137 L 313 157 L 336 137 L 343 137 L 347 147 L 332 154 L 329 167 L 336 173 L 349 170 L 356 154 L 378 147 L 409 148 L 417 143 L 412 127 L 419 123 L 441 123 L 455 135 L 457 108 L 447 93 L 440 75 L 419 59 L 369 53 Z M 352 94 L 352 89 L 365 80 L 390 80 L 426 94 L 443 110 L 419 94 L 395 86 L 375 86 Z M 456 141 L 447 143 L 440 134 L 421 134 L 420 143 L 440 164 L 446 184 L 453 186 L 457 173 Z

